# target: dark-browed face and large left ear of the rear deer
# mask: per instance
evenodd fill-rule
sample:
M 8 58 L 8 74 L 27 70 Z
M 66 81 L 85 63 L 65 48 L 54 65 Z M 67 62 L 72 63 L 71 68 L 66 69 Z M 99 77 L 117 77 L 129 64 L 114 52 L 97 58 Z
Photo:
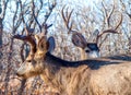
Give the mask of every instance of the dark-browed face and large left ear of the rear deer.
M 72 35 L 72 43 L 74 44 L 74 46 L 80 48 L 80 50 L 82 51 L 81 56 L 86 52 L 86 58 L 99 57 L 99 48 L 97 46 L 97 43 L 87 43 L 81 33 L 75 32 Z

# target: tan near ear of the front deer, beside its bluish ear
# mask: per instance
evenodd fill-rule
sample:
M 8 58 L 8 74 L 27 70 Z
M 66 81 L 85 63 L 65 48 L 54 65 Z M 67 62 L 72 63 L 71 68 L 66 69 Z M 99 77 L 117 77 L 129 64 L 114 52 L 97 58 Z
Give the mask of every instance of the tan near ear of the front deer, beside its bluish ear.
M 48 49 L 48 45 L 47 45 L 47 37 L 43 36 L 39 40 L 38 40 L 38 45 L 37 45 L 38 49 L 41 51 L 45 51 Z

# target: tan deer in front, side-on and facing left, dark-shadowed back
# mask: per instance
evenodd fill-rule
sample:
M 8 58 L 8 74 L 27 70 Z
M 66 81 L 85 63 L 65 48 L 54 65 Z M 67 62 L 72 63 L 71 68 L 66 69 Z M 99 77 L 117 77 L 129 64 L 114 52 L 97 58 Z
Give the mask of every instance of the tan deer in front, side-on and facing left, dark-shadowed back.
M 55 38 L 45 35 L 22 36 L 31 51 L 16 70 L 22 79 L 40 75 L 57 95 L 130 95 L 131 62 L 104 58 L 63 60 L 51 52 Z

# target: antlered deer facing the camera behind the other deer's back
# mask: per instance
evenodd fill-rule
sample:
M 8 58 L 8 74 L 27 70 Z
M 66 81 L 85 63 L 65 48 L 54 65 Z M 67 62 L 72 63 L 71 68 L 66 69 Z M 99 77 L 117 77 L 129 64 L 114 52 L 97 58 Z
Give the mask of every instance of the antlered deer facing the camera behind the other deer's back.
M 118 27 L 121 25 L 122 23 L 122 14 L 120 15 L 120 20 L 118 22 L 118 24 L 115 27 L 109 27 L 110 26 L 110 16 L 114 13 L 115 10 L 115 4 L 110 11 L 110 13 L 108 14 L 108 16 L 106 16 L 107 19 L 107 23 L 108 23 L 108 29 L 104 29 L 102 32 L 99 32 L 98 29 L 96 29 L 95 32 L 93 32 L 93 34 L 91 35 L 91 37 L 87 39 L 85 38 L 81 32 L 78 32 L 75 29 L 72 28 L 73 26 L 73 21 L 71 22 L 71 15 L 73 13 L 73 10 L 71 10 L 70 12 L 68 11 L 68 9 L 66 10 L 66 5 L 62 8 L 61 10 L 61 16 L 63 19 L 64 25 L 68 28 L 68 34 L 72 34 L 72 44 L 79 48 L 80 54 L 81 54 L 81 60 L 85 60 L 87 58 L 99 58 L 100 57 L 100 47 L 102 44 L 106 40 L 107 36 L 99 43 L 100 38 L 103 37 L 104 34 L 120 34 L 117 29 Z M 105 20 L 105 21 L 106 21 Z M 94 39 L 93 39 L 94 37 Z M 87 39 L 87 40 L 86 40 Z M 88 43 L 88 40 L 92 40 L 92 43 Z

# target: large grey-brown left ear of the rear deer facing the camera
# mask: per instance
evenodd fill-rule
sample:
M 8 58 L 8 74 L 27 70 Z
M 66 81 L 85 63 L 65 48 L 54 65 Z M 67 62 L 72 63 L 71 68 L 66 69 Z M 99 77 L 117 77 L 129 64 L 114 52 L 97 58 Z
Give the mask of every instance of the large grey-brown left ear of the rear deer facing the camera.
M 84 49 L 87 45 L 87 41 L 84 38 L 84 36 L 78 32 L 72 34 L 72 43 L 74 44 L 74 46 L 80 47 L 82 49 Z

